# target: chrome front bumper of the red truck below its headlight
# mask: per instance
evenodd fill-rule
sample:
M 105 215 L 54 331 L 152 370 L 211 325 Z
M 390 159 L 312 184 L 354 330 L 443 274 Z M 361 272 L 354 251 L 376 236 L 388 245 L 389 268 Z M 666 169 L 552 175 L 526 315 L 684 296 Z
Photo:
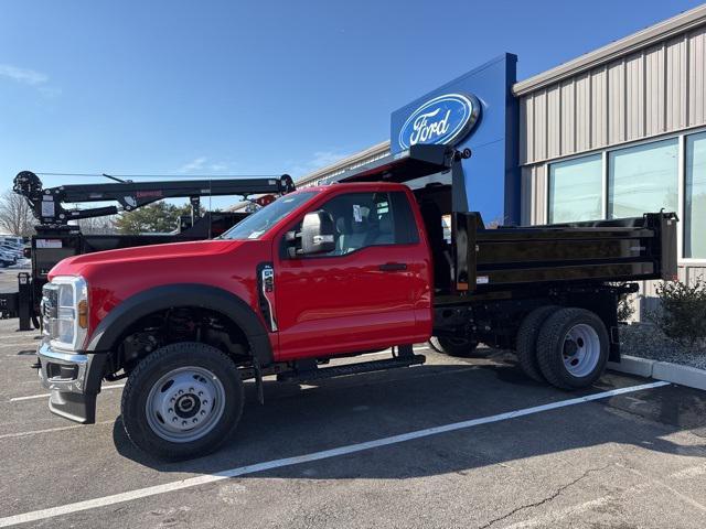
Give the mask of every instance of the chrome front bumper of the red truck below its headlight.
M 83 424 L 94 423 L 105 355 L 56 350 L 44 339 L 36 356 L 42 386 L 52 391 L 52 413 Z

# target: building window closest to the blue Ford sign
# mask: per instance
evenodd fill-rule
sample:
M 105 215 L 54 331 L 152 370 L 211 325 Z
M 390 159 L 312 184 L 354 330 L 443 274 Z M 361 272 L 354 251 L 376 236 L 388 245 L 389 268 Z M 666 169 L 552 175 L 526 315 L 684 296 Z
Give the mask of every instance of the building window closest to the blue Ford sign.
M 549 223 L 596 220 L 603 216 L 601 155 L 549 165 Z

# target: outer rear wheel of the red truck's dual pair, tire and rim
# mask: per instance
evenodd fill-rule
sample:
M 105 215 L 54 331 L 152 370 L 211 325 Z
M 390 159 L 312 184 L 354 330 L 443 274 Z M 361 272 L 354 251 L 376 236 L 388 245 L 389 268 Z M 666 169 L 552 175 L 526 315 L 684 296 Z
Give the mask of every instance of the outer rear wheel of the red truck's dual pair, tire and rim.
M 600 317 L 585 309 L 559 309 L 539 331 L 537 360 L 553 386 L 587 388 L 603 374 L 609 347 Z

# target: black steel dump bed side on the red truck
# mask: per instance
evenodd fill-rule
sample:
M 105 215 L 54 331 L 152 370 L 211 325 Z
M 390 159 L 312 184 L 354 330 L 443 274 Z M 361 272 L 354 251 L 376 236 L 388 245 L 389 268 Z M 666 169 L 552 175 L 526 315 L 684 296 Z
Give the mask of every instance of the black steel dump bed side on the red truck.
M 510 285 L 676 278 L 676 216 L 485 229 L 477 213 L 453 216 L 459 291 Z

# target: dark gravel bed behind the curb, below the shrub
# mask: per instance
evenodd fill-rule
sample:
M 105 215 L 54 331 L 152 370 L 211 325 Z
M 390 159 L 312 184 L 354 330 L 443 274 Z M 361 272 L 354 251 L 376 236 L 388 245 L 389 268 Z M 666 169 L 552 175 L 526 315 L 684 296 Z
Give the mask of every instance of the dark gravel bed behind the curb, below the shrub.
M 621 325 L 620 343 L 625 355 L 706 369 L 706 344 L 685 347 L 651 323 Z

